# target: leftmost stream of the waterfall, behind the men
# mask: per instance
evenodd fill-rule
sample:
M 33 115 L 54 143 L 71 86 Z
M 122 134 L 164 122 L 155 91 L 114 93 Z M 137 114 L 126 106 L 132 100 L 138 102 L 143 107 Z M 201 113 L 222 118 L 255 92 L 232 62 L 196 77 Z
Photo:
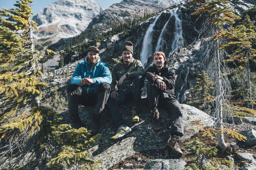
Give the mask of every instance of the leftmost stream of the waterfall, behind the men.
M 140 52 L 140 61 L 142 62 L 142 65 L 146 65 L 148 57 L 151 57 L 153 52 L 152 52 L 152 36 L 153 36 L 153 27 L 155 26 L 158 18 L 160 17 L 161 13 L 156 17 L 155 21 L 151 23 L 146 31 L 146 34 L 143 39 L 143 44 L 142 44 L 142 51 Z

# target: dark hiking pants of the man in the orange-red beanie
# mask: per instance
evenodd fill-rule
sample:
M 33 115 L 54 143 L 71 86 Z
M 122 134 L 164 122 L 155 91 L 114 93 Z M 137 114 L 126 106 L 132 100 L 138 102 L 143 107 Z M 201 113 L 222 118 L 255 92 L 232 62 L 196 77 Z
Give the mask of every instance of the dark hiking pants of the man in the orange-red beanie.
M 183 117 L 181 105 L 173 95 L 163 93 L 157 83 L 147 82 L 147 97 L 151 110 L 156 110 L 157 106 L 162 106 L 171 115 L 171 135 L 183 136 Z

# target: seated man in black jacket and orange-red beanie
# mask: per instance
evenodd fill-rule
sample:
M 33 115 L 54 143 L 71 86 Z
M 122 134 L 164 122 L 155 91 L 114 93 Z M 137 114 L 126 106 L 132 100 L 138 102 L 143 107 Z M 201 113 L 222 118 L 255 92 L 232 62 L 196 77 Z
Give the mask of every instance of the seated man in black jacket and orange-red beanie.
M 147 83 L 147 96 L 151 109 L 151 121 L 154 130 L 160 130 L 158 104 L 162 105 L 171 115 L 171 137 L 167 146 L 180 156 L 183 152 L 178 145 L 180 137 L 184 134 L 183 117 L 180 103 L 174 98 L 175 72 L 167 66 L 165 54 L 156 52 L 152 56 L 153 66 L 148 67 L 145 77 Z

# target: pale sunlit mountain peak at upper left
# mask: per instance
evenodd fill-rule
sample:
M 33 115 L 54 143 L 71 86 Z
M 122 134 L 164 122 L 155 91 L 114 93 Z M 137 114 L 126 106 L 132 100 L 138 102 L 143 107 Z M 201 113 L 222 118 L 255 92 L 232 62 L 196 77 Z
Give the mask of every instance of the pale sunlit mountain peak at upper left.
M 40 31 L 38 38 L 50 38 L 56 43 L 60 38 L 78 35 L 92 19 L 105 8 L 94 0 L 59 0 L 41 9 L 33 20 Z

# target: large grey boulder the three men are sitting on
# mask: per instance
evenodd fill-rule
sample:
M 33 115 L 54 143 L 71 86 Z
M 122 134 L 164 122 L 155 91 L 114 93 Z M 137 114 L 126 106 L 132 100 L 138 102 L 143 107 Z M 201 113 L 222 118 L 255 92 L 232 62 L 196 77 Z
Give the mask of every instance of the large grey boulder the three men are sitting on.
M 126 121 L 126 124 L 132 128 L 132 132 L 119 140 L 109 139 L 116 133 L 116 129 L 113 127 L 112 121 L 109 119 L 109 112 L 105 109 L 103 116 L 100 119 L 99 133 L 101 134 L 101 137 L 99 141 L 97 141 L 96 146 L 89 151 L 92 153 L 93 160 L 103 162 L 100 164 L 101 169 L 109 168 L 139 151 L 165 148 L 170 135 L 169 122 L 171 115 L 169 115 L 164 110 L 159 109 L 161 118 L 161 130 L 159 132 L 155 132 L 151 127 L 150 109 L 147 106 L 147 102 L 145 100 L 142 102 L 143 104 L 141 105 L 141 111 L 138 115 L 140 121 L 136 124 L 134 124 L 131 120 L 131 105 L 125 104 L 120 106 L 120 110 L 123 113 L 123 118 Z M 213 122 L 209 115 L 196 109 L 193 106 L 182 104 L 182 110 L 185 125 L 185 134 L 182 140 L 185 140 L 198 132 L 198 130 L 196 130 L 196 125 L 190 124 L 191 121 L 204 119 L 206 125 L 211 125 Z M 85 126 L 89 126 L 89 124 L 91 124 L 93 108 L 81 107 L 79 112 Z M 65 114 L 63 115 L 63 118 L 68 117 L 68 115 L 66 115 L 67 112 L 63 112 L 63 114 Z M 67 123 L 70 122 L 69 119 L 66 119 L 66 121 Z M 167 160 L 167 162 L 171 163 L 172 160 Z M 174 160 L 174 162 L 177 161 Z M 182 166 L 185 165 L 183 161 L 178 162 L 180 162 Z M 172 167 L 178 168 L 177 165 L 173 165 Z

